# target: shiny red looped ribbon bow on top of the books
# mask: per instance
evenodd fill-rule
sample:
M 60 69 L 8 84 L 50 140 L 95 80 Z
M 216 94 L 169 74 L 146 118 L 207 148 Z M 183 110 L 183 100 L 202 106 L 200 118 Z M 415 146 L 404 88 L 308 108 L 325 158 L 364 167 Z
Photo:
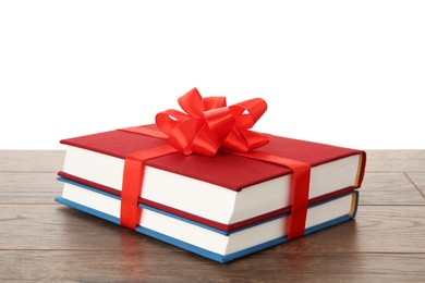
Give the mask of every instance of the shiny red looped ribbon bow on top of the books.
M 202 98 L 193 88 L 179 98 L 185 113 L 169 109 L 156 115 L 157 126 L 168 143 L 184 155 L 215 156 L 219 149 L 246 152 L 267 145 L 267 136 L 250 131 L 267 110 L 254 98 L 227 107 L 226 97 Z

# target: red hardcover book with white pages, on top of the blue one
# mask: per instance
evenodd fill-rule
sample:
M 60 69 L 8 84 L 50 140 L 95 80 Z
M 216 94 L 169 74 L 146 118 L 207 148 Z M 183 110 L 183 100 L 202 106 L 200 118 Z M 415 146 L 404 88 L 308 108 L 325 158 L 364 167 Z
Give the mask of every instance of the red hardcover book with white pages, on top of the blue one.
M 59 175 L 120 195 L 124 160 L 133 152 L 168 145 L 141 133 L 156 125 L 113 130 L 61 140 L 68 145 Z M 160 136 L 160 135 L 159 135 Z M 263 134 L 269 142 L 252 152 L 312 167 L 308 205 L 361 186 L 363 150 Z M 272 162 L 217 151 L 214 157 L 174 152 L 144 161 L 139 201 L 201 223 L 231 231 L 290 211 L 292 170 Z

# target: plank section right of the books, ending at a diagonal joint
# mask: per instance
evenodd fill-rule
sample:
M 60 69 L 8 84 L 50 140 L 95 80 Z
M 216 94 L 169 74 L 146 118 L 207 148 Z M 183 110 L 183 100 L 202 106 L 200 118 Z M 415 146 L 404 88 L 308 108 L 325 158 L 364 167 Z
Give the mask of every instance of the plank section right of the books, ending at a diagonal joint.
M 425 198 L 404 173 L 366 172 L 359 192 L 360 205 L 425 205 Z

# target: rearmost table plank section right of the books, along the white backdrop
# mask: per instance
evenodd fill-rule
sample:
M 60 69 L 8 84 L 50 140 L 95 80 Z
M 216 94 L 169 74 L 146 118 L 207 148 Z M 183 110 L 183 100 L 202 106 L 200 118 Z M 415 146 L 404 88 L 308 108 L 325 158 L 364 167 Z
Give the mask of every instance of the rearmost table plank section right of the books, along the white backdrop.
M 367 172 L 425 170 L 425 150 L 367 150 Z

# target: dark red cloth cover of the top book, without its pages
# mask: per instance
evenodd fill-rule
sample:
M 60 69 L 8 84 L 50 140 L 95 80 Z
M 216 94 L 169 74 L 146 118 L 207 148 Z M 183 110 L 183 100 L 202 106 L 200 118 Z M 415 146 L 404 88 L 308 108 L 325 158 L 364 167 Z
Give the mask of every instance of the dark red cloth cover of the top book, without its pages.
M 155 125 L 148 125 L 148 127 L 156 128 Z M 262 148 L 255 149 L 255 151 L 267 152 L 279 157 L 303 161 L 309 163 L 312 168 L 341 158 L 360 155 L 361 158 L 355 184 L 349 187 L 341 187 L 340 189 L 331 192 L 330 194 L 311 199 L 309 204 L 347 193 L 361 186 L 366 160 L 364 151 L 274 135 L 267 136 L 270 139 L 269 144 L 263 146 Z M 116 130 L 105 133 L 68 138 L 61 140 L 61 143 L 69 146 L 124 159 L 132 152 L 163 146 L 167 144 L 167 140 Z M 292 172 L 289 168 L 284 168 L 282 165 L 226 152 L 218 152 L 215 157 L 206 157 L 196 153 L 184 156 L 180 152 L 177 152 L 169 156 L 146 160 L 145 164 L 147 167 L 157 168 L 163 171 L 226 187 L 234 192 L 241 192 L 245 187 L 259 184 L 282 175 L 291 174 Z M 90 185 L 99 189 L 108 190 L 109 193 L 117 195 L 120 194 L 120 192 L 114 188 L 97 184 L 90 180 L 84 180 L 78 176 L 70 175 L 68 172 L 60 172 L 59 174 L 66 179 Z M 145 202 L 171 213 L 175 213 L 223 231 L 230 231 L 264 219 L 268 219 L 276 214 L 289 211 L 290 209 L 288 207 L 281 208 L 279 210 L 275 210 L 263 216 L 257 216 L 252 219 L 246 219 L 238 223 L 222 224 L 206 218 L 181 211 L 172 207 L 165 206 L 163 204 L 157 204 L 151 200 L 141 199 L 141 202 Z

